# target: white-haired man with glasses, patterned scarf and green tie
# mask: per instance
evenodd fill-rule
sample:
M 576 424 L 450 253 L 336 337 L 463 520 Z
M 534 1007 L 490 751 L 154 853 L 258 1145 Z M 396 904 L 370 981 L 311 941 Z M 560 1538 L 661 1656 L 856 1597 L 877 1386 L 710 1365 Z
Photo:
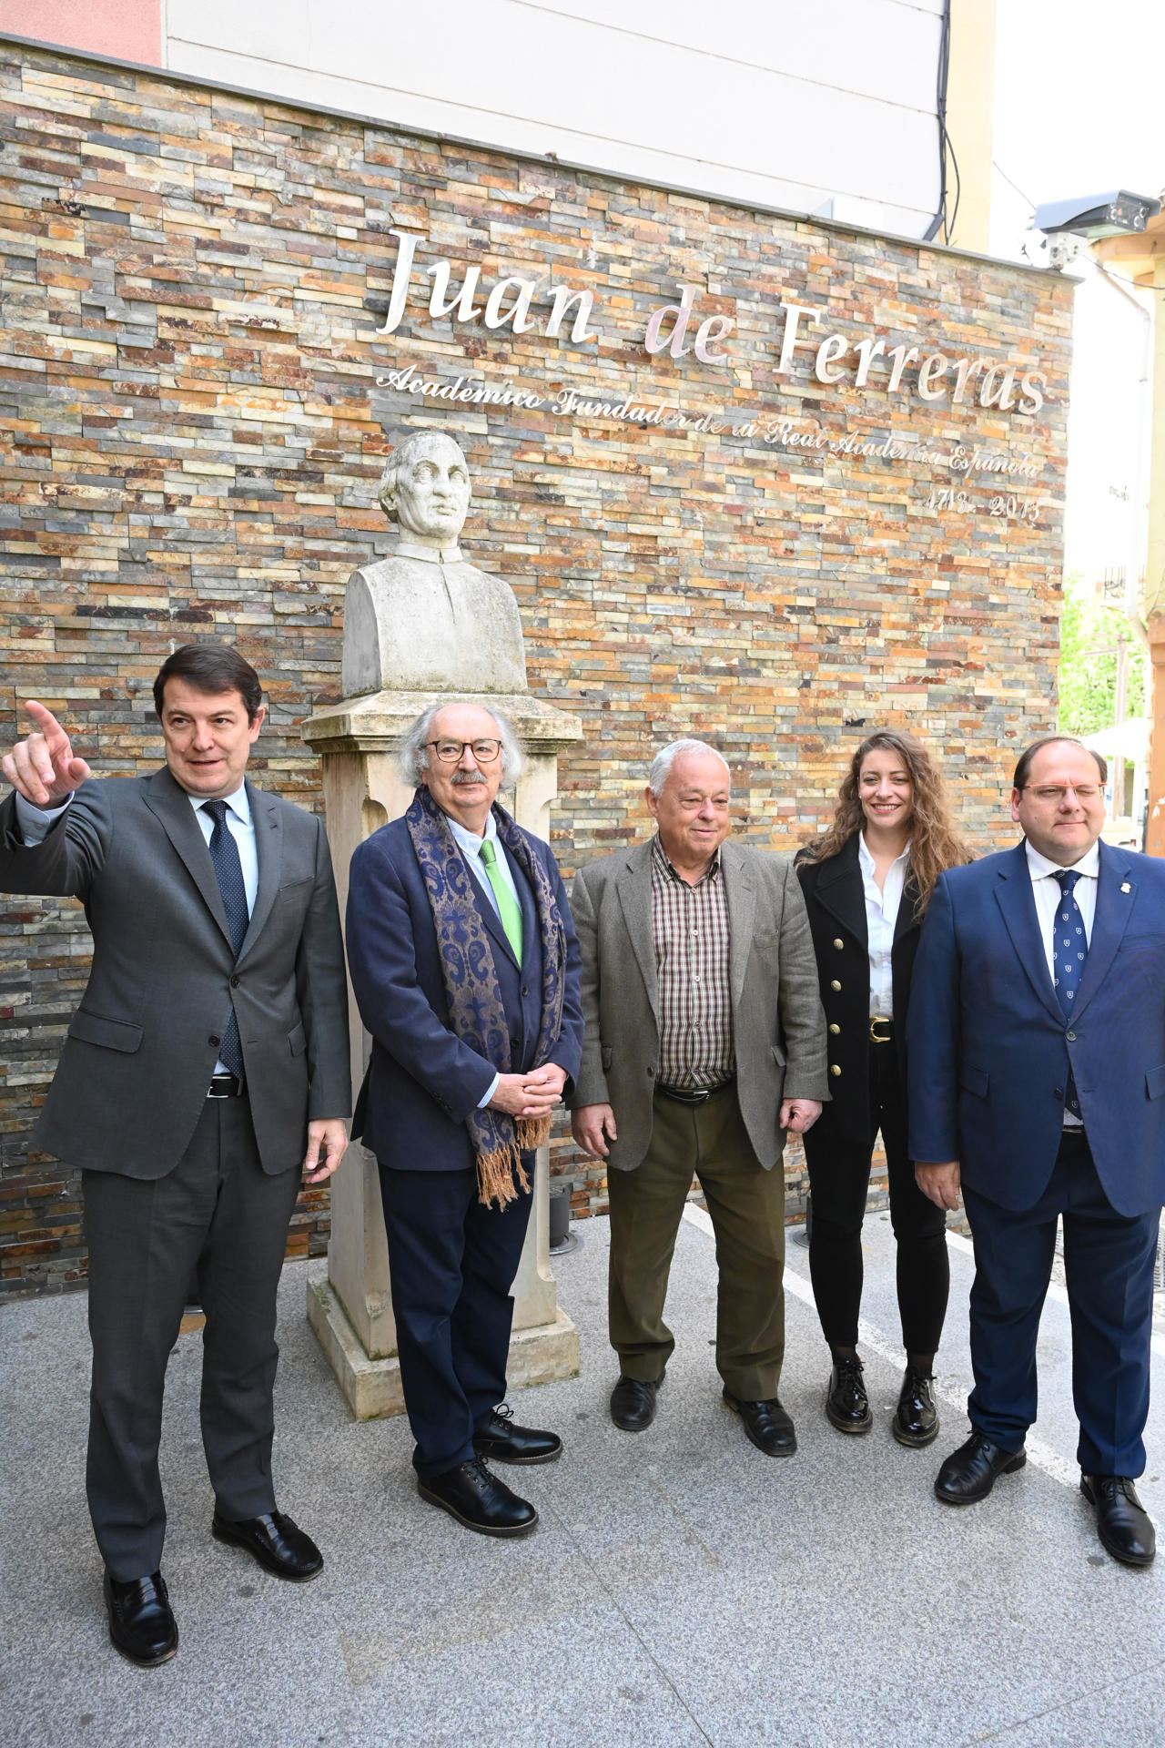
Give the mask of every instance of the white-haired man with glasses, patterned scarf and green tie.
M 417 1491 L 468 1530 L 526 1535 L 538 1512 L 486 1458 L 562 1449 L 503 1398 L 534 1148 L 582 1054 L 578 942 L 548 844 L 498 806 L 520 769 L 501 715 L 426 710 L 402 767 L 412 806 L 349 871 L 348 963 L 372 1033 L 353 1133 L 381 1168 Z

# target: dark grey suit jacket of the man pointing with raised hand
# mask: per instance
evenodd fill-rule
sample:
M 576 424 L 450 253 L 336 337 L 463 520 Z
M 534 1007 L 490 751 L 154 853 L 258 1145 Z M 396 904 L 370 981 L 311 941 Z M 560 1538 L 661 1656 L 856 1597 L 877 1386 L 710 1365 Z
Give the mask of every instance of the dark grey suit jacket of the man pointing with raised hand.
M 0 806 L 0 890 L 75 897 L 93 970 L 33 1131 L 91 1171 L 161 1178 L 185 1152 L 231 1007 L 264 1171 L 304 1157 L 309 1117 L 351 1112 L 348 984 L 321 822 L 246 794 L 259 891 L 238 961 L 215 865 L 168 769 L 84 783 L 42 844 Z

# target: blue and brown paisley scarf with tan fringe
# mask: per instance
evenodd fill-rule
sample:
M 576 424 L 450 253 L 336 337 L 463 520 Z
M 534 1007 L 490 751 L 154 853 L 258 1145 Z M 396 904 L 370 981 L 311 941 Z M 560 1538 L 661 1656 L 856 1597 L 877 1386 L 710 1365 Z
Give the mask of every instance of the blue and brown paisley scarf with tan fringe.
M 562 1024 L 566 988 L 566 930 L 550 877 L 517 825 L 494 802 L 498 837 L 529 881 L 541 939 L 541 1019 L 534 1068 L 550 1059 Z M 498 1073 L 512 1073 L 510 1028 L 501 1005 L 494 951 L 473 900 L 473 876 L 428 788 L 421 785 L 405 813 L 409 837 L 433 907 L 440 968 L 452 1031 L 484 1056 Z M 529 1189 L 522 1154 L 550 1140 L 550 1119 L 514 1119 L 501 1110 L 475 1110 L 465 1122 L 477 1157 L 477 1194 L 486 1206 L 507 1203 Z

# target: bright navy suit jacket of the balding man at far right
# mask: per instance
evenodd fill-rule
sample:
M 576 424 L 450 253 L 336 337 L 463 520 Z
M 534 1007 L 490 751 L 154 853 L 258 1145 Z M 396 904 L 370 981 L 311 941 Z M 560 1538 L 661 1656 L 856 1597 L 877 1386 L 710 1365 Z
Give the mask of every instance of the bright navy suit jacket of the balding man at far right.
M 908 1017 L 910 1157 L 1031 1208 L 1060 1147 L 1069 1063 L 1104 1192 L 1165 1203 L 1165 864 L 1100 844 L 1097 912 L 1071 1019 L 1048 974 L 1024 843 L 934 886 Z

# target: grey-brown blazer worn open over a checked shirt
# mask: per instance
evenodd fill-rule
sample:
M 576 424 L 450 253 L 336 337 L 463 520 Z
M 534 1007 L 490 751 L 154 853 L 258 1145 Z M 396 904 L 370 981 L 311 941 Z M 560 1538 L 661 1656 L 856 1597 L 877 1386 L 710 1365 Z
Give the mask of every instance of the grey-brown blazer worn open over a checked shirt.
M 720 865 L 732 937 L 737 1096 L 756 1157 L 772 1169 L 784 1147 L 781 1101 L 830 1096 L 817 961 L 791 862 L 728 841 Z M 613 1108 L 618 1140 L 608 1166 L 632 1171 L 651 1140 L 660 1047 L 651 844 L 580 869 L 571 911 L 583 960 L 587 1028 L 571 1103 Z

